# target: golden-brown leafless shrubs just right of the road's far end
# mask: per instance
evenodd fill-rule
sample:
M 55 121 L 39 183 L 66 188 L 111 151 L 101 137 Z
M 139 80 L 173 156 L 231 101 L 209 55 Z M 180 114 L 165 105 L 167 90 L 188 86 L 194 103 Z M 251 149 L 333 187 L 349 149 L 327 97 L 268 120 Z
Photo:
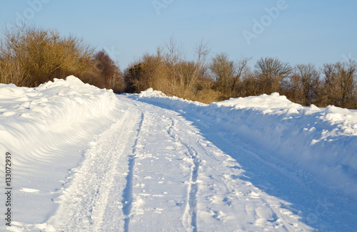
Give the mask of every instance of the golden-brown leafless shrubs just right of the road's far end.
M 176 95 L 189 100 L 211 102 L 218 94 L 211 89 L 211 79 L 206 68 L 209 49 L 204 43 L 195 48 L 193 60 L 184 60 L 173 38 L 156 54 L 144 54 L 124 71 L 126 91 L 139 93 L 147 88 L 161 90 L 166 95 Z M 209 90 L 208 90 L 209 88 Z

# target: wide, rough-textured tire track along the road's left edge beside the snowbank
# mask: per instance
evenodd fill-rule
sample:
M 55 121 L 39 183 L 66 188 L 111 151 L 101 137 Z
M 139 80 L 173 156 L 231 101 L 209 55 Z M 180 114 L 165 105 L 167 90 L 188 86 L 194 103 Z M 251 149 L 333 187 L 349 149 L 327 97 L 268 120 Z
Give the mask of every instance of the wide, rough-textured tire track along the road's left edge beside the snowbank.
M 74 174 L 74 179 L 60 196 L 59 209 L 49 221 L 49 231 L 99 231 L 106 222 L 116 221 L 116 228 L 123 228 L 124 216 L 104 218 L 109 201 L 116 196 L 109 196 L 114 186 L 114 179 L 122 179 L 128 172 L 126 166 L 128 145 L 131 144 L 131 132 L 137 125 L 132 111 L 126 110 L 124 115 L 109 130 L 106 130 L 98 139 L 95 147 L 85 154 L 84 162 Z M 120 182 L 119 182 L 120 183 Z M 119 184 L 117 183 L 117 184 Z M 124 189 L 124 186 L 117 186 Z M 120 191 L 120 190 L 119 190 Z M 121 199 L 119 199 L 119 202 Z M 116 206 L 118 209 L 121 206 Z

